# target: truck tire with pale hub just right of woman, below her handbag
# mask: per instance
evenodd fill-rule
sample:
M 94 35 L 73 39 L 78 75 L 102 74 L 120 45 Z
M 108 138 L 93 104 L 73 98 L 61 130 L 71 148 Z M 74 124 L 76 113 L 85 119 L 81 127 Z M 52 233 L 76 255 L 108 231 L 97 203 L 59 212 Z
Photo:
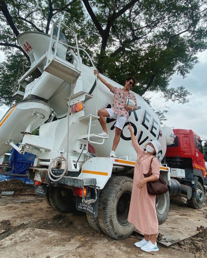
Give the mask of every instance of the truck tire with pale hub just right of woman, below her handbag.
M 156 196 L 155 207 L 156 207 L 158 224 L 161 225 L 162 223 L 165 222 L 170 208 L 169 192 Z

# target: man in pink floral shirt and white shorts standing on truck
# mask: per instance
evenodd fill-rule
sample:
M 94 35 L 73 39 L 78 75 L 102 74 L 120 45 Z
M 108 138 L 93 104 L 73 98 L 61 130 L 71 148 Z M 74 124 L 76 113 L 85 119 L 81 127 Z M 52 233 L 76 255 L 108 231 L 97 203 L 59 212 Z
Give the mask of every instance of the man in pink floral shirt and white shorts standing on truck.
M 104 108 L 98 111 L 98 116 L 100 125 L 103 129 L 103 132 L 99 135 L 105 136 L 106 139 L 109 139 L 109 134 L 106 127 L 105 117 L 110 117 L 116 119 L 115 137 L 113 141 L 112 151 L 110 152 L 110 157 L 115 157 L 115 150 L 120 141 L 120 135 L 126 120 L 129 118 L 129 111 L 137 110 L 137 100 L 133 92 L 130 90 L 134 85 L 136 85 L 136 79 L 134 77 L 127 77 L 124 81 L 125 85 L 123 88 L 114 87 L 112 84 L 108 83 L 103 79 L 97 70 L 94 70 L 94 74 L 97 74 L 99 80 L 105 84 L 109 90 L 114 94 L 114 100 L 112 108 Z M 131 99 L 135 102 L 136 106 L 133 108 L 126 105 L 126 100 Z

